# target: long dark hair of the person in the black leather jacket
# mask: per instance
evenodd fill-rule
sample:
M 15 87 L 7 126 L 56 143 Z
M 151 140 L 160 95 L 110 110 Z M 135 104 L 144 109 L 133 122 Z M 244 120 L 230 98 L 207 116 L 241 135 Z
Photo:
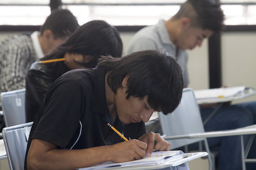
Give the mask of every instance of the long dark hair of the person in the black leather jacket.
M 90 55 L 93 58 L 83 66 L 94 68 L 101 55 L 121 57 L 122 51 L 123 43 L 116 28 L 105 21 L 94 20 L 80 26 L 65 43 L 40 60 L 63 58 L 66 53 L 82 54 L 84 57 Z M 49 63 L 49 66 L 56 78 L 67 69 L 63 62 Z

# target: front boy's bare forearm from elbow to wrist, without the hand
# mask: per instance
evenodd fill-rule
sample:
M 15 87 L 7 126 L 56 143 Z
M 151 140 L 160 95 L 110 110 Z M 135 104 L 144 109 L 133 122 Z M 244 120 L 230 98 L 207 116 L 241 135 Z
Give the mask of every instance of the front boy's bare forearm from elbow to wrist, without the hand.
M 35 149 L 28 154 L 27 167 L 28 170 L 74 170 L 110 161 L 109 152 L 110 146 L 74 150 L 51 149 L 45 153 Z

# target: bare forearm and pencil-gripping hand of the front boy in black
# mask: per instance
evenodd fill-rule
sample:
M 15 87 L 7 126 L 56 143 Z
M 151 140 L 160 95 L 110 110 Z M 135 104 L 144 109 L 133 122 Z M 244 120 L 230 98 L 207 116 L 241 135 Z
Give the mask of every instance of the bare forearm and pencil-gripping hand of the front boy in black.
M 57 149 L 52 143 L 33 139 L 26 165 L 28 170 L 74 170 L 106 161 L 124 162 L 141 159 L 146 155 L 146 148 L 146 143 L 132 139 L 108 146 L 68 150 Z

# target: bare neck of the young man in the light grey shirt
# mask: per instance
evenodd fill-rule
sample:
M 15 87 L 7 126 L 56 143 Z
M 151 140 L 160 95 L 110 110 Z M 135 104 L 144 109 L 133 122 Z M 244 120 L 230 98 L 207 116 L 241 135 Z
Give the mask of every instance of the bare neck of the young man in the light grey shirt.
M 169 19 L 168 21 L 164 22 L 164 25 L 168 31 L 169 37 L 172 41 L 172 43 L 177 46 L 177 26 L 178 26 L 178 21 L 173 20 L 172 18 Z

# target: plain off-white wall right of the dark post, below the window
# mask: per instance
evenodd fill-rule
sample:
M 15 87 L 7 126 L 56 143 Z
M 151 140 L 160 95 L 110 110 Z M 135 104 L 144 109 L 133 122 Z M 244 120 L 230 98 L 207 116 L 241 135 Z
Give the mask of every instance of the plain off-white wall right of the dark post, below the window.
M 221 43 L 223 85 L 256 88 L 256 32 L 225 33 Z M 242 101 L 251 100 L 256 96 Z

